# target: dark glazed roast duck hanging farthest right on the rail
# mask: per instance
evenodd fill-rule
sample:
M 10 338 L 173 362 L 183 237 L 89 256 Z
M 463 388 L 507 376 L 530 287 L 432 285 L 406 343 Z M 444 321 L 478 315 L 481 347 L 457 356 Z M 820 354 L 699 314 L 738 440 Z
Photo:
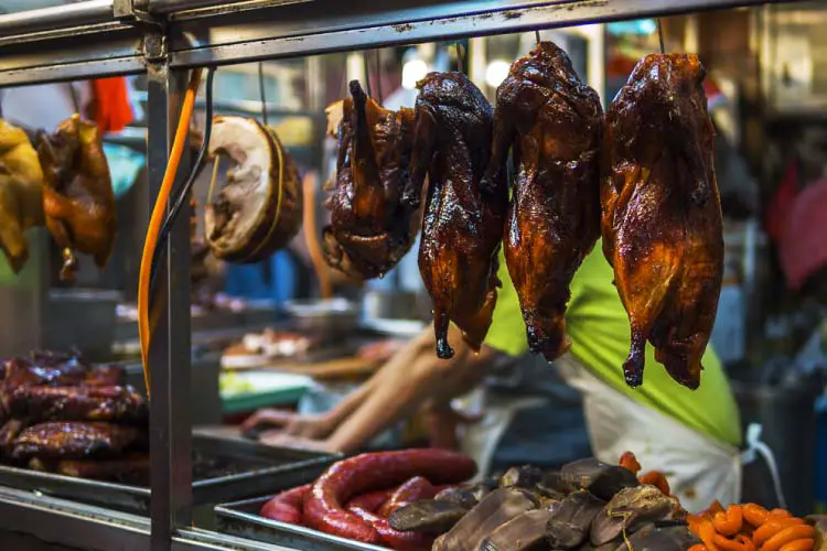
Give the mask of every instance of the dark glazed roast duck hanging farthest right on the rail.
M 629 313 L 626 382 L 645 346 L 680 385 L 700 385 L 723 273 L 712 123 L 696 55 L 653 54 L 606 114 L 603 251 Z

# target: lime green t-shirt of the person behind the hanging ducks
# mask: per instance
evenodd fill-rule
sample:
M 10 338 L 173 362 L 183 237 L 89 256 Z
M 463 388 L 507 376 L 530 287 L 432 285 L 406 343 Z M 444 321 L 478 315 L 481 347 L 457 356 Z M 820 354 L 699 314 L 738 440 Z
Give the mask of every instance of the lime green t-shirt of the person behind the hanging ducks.
M 525 323 L 502 253 L 500 262 L 503 289 L 485 344 L 508 355 L 522 356 L 528 352 Z M 612 284 L 613 279 L 612 268 L 598 242 L 571 282 L 571 300 L 566 314 L 571 354 L 591 368 L 593 375 L 636 402 L 670 415 L 719 442 L 740 445 L 738 406 L 711 346 L 704 355 L 705 369 L 698 390 L 689 390 L 673 381 L 663 366 L 655 361 L 654 348 L 648 344 L 643 385 L 637 389 L 626 385 L 622 365 L 629 355 L 629 317 Z

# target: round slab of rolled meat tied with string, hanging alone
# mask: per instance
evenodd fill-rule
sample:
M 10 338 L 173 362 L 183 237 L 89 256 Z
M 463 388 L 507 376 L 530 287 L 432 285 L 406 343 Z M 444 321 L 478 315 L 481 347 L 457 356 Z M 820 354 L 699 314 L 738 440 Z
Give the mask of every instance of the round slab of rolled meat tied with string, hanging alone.
M 233 164 L 205 208 L 213 256 L 251 263 L 284 247 L 301 226 L 301 182 L 276 133 L 255 119 L 216 115 L 210 154 L 226 155 Z

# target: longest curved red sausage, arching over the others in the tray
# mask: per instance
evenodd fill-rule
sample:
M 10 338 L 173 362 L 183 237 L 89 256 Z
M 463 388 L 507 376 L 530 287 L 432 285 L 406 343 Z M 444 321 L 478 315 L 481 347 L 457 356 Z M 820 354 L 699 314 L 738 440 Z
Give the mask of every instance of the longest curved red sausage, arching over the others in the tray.
M 304 498 L 304 523 L 314 530 L 378 543 L 378 532 L 365 520 L 343 509 L 350 498 L 393 488 L 414 476 L 438 484 L 459 483 L 476 473 L 470 457 L 445 450 L 405 450 L 367 453 L 327 468 Z

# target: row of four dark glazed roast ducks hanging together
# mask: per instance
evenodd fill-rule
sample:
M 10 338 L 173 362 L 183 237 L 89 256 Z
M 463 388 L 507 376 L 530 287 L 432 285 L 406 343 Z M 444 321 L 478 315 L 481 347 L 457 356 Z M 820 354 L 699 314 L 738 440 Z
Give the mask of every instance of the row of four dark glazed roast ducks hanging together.
M 412 122 L 354 82 L 337 133 L 329 262 L 362 278 L 393 268 L 428 182 L 419 267 L 437 354 L 453 355 L 449 323 L 482 345 L 503 241 L 529 348 L 554 360 L 570 347 L 569 285 L 602 234 L 630 317 L 627 383 L 643 382 L 648 341 L 676 381 L 697 388 L 723 267 L 704 77 L 695 55 L 649 55 L 604 117 L 568 55 L 543 42 L 514 63 L 496 109 L 465 75 L 431 73 L 417 84 Z

